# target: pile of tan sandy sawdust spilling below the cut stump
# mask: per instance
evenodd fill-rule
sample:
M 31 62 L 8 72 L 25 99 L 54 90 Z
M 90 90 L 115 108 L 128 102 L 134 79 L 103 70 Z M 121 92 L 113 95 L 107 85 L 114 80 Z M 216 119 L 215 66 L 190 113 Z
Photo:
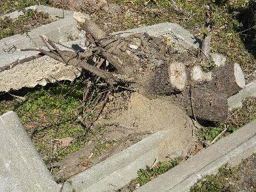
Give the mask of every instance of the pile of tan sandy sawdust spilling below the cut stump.
M 194 125 L 191 119 L 180 108 L 164 98 L 149 99 L 133 93 L 127 104 L 114 102 L 109 102 L 109 106 L 112 105 L 114 108 L 118 108 L 118 105 L 124 106 L 119 107 L 119 110 L 106 107 L 112 112 L 108 113 L 103 120 L 104 123 L 132 128 L 136 132 L 170 131 L 159 148 L 159 160 L 165 160 L 172 151 L 188 151 L 195 142 L 192 137 Z

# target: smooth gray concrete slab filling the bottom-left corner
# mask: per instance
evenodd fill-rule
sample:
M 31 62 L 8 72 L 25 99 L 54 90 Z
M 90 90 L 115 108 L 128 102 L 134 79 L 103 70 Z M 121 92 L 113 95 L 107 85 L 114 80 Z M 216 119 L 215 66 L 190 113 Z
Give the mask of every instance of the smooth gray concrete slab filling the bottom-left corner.
M 0 116 L 0 191 L 59 191 L 14 112 Z

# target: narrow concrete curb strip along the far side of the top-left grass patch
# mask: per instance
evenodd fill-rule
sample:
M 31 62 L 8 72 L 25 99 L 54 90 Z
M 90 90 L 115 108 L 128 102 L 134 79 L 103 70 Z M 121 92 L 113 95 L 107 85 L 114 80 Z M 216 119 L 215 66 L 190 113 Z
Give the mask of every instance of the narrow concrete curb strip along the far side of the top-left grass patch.
M 29 9 L 47 13 L 49 14 L 50 17 L 52 17 L 52 19 L 64 19 L 67 16 L 72 16 L 74 13 L 74 11 L 58 9 L 55 7 L 42 6 L 42 5 L 29 6 L 24 8 L 24 11 L 27 11 Z M 2 17 L 10 17 L 11 19 L 17 19 L 17 17 L 24 14 L 24 11 L 13 11 L 8 14 L 4 14 L 4 16 Z

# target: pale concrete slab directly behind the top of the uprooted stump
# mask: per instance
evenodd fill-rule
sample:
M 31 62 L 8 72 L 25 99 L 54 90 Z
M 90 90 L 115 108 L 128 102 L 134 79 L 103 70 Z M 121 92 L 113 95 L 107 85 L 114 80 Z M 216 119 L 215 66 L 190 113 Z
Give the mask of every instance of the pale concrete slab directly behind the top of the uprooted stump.
M 120 34 L 122 37 L 129 36 L 132 33 L 147 32 L 150 36 L 167 36 L 168 40 L 173 44 L 179 44 L 182 47 L 192 46 L 198 49 L 201 41 L 197 37 L 190 34 L 187 29 L 184 29 L 179 24 L 172 22 L 162 22 L 152 26 L 140 27 L 136 29 L 130 29 L 127 31 L 115 32 L 114 34 Z

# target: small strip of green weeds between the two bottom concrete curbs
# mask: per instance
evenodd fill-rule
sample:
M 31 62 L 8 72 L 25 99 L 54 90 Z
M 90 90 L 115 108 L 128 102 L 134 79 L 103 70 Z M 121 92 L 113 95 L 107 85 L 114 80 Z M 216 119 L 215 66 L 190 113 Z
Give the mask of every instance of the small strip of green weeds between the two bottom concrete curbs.
M 145 183 L 148 183 L 150 180 L 156 178 L 162 173 L 165 173 L 166 171 L 169 171 L 171 168 L 174 168 L 174 166 L 179 165 L 181 161 L 182 158 L 174 158 L 167 162 L 159 162 L 152 168 L 147 166 L 145 170 L 140 169 L 139 171 L 137 171 L 137 178 L 132 181 L 132 183 L 139 183 L 140 186 L 145 185 Z

